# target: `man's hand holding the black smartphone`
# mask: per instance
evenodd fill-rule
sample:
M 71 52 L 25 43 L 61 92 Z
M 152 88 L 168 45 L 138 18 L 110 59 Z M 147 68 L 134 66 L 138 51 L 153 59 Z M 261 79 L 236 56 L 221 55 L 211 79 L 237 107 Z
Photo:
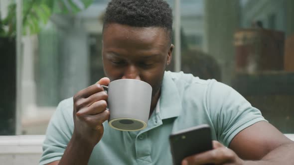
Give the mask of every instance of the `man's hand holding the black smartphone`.
M 237 154 L 221 143 L 213 141 L 213 150 L 185 158 L 182 165 L 243 165 Z

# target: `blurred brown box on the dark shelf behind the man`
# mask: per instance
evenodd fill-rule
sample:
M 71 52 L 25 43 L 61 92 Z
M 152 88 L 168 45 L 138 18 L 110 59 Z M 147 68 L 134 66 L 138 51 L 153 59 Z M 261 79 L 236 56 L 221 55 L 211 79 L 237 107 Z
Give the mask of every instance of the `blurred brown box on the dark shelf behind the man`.
M 234 34 L 236 72 L 284 69 L 284 32 L 263 28 L 240 29 Z

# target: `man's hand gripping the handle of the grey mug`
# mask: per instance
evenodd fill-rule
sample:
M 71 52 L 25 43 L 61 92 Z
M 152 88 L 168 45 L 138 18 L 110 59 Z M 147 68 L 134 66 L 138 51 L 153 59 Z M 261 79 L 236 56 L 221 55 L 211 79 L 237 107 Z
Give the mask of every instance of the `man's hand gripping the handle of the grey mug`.
M 80 90 L 74 100 L 74 132 L 76 140 L 94 147 L 102 138 L 102 123 L 109 118 L 107 108 L 108 95 L 101 85 L 108 85 L 110 80 L 102 78 L 96 84 Z

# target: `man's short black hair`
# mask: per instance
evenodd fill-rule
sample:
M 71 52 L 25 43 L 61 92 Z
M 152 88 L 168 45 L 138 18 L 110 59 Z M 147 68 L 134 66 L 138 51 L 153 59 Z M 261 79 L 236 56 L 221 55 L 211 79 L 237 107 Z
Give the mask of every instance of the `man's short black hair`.
M 164 0 L 111 0 L 104 15 L 103 28 L 111 23 L 162 27 L 171 39 L 172 11 Z

